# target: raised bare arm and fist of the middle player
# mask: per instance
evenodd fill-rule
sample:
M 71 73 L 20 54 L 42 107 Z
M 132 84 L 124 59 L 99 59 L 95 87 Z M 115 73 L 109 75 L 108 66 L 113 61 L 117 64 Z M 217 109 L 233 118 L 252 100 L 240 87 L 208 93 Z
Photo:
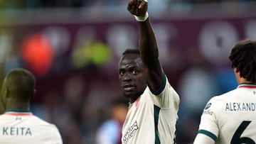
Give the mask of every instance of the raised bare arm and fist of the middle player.
M 139 23 L 139 50 L 142 61 L 148 71 L 148 85 L 156 92 L 164 80 L 163 70 L 159 62 L 159 52 L 156 38 L 147 13 L 148 3 L 144 0 L 129 0 L 127 9 L 135 16 Z

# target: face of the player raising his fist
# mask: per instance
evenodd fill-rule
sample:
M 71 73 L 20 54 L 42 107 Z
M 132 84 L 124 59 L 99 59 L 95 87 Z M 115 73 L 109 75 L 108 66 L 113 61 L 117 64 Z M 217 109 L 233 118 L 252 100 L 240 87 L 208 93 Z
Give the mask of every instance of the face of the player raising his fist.
M 126 54 L 119 61 L 119 84 L 124 96 L 131 102 L 144 92 L 146 88 L 146 72 L 141 57 L 137 54 Z

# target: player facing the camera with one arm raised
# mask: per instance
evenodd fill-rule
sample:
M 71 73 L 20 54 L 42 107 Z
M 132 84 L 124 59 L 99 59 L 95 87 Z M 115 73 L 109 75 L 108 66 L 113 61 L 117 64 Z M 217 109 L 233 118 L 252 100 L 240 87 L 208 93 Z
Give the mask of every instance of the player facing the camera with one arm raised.
M 130 99 L 123 144 L 176 143 L 180 100 L 159 62 L 147 6 L 143 0 L 130 0 L 127 6 L 139 23 L 139 49 L 125 50 L 119 61 L 119 83 Z

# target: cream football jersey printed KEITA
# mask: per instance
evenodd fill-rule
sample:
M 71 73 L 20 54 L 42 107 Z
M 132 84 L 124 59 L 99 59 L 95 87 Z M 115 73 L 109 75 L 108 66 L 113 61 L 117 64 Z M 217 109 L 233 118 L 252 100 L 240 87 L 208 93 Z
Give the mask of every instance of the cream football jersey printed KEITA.
M 0 115 L 0 144 L 62 144 L 55 125 L 30 111 L 6 111 Z

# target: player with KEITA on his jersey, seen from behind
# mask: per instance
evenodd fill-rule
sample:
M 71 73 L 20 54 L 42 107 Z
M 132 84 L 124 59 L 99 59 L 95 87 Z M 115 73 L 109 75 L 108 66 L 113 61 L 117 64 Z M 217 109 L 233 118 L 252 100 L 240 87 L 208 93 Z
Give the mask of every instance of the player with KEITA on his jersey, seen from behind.
M 0 115 L 0 143 L 63 143 L 55 125 L 30 111 L 35 86 L 35 77 L 28 70 L 17 68 L 6 74 L 0 96 L 5 109 Z

